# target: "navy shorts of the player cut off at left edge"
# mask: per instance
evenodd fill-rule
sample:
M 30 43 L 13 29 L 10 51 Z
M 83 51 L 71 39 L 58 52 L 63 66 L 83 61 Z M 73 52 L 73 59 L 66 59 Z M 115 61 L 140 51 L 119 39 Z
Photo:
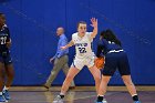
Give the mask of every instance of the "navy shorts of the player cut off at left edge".
M 4 63 L 4 64 L 11 64 L 12 63 L 12 58 L 11 58 L 9 51 L 0 53 L 0 62 Z

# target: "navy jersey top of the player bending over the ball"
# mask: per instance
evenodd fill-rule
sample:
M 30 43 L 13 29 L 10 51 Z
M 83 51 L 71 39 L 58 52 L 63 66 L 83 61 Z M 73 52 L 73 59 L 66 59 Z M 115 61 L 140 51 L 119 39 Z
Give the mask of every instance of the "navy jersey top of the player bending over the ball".
M 101 53 L 105 55 L 108 51 L 112 51 L 112 50 L 122 50 L 122 47 L 116 44 L 115 42 L 106 41 L 105 39 L 102 39 L 99 41 L 99 44 L 97 44 L 96 56 L 100 56 Z

